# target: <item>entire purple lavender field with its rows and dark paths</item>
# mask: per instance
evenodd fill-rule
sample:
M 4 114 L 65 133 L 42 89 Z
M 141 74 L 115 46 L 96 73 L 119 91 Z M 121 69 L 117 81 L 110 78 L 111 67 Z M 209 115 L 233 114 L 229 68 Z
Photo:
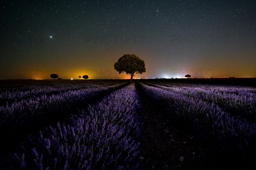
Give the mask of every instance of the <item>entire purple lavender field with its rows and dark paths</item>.
M 0 136 L 0 169 L 249 170 L 256 86 L 2 80 Z

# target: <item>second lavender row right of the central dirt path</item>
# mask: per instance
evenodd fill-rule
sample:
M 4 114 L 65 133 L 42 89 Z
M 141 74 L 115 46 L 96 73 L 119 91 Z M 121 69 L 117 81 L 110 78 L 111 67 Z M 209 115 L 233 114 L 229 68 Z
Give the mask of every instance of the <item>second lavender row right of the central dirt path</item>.
M 249 87 L 190 86 L 177 87 L 169 84 L 148 83 L 175 93 L 184 94 L 195 99 L 213 102 L 225 112 L 240 116 L 249 122 L 256 123 L 256 89 Z

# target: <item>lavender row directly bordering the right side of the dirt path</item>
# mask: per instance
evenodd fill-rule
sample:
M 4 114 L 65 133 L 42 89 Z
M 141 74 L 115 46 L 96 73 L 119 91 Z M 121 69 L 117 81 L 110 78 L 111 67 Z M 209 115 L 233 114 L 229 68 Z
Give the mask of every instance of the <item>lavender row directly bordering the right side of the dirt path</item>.
M 236 119 L 214 102 L 204 101 L 177 91 L 143 83 L 144 93 L 165 108 L 170 120 L 200 136 L 218 152 L 254 164 L 256 159 L 256 124 Z

